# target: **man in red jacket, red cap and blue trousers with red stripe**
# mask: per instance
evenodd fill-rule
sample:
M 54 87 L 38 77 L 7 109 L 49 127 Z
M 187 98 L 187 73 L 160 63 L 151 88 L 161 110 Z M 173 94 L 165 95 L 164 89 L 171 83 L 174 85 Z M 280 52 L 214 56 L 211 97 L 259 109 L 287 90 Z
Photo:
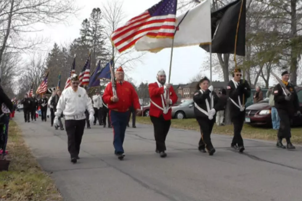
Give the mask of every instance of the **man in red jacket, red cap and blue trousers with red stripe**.
M 112 91 L 112 82 L 107 85 L 103 100 L 108 104 L 109 118 L 113 128 L 113 146 L 114 153 L 118 159 L 124 159 L 124 138 L 128 124 L 129 108 L 131 106 L 136 110 L 137 115 L 141 113 L 141 105 L 138 101 L 138 95 L 130 82 L 124 81 L 124 70 L 119 67 L 115 72 L 116 78 L 116 96 Z

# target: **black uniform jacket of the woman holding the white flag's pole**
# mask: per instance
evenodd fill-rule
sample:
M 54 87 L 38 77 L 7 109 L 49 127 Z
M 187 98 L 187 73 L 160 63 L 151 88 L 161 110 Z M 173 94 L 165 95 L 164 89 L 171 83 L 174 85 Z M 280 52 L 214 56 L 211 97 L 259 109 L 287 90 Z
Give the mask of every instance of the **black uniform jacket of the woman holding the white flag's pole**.
M 208 100 L 210 109 L 212 109 L 210 94 L 211 94 L 210 90 L 206 90 L 203 93 L 201 93 L 200 90 L 195 91 L 194 97 L 193 97 L 194 103 L 196 103 L 203 110 L 207 111 L 206 100 Z M 213 108 L 216 110 L 216 112 L 219 110 L 223 110 L 224 106 L 214 91 L 212 92 L 212 97 L 214 100 Z M 209 112 L 209 111 L 207 111 L 207 112 Z M 195 115 L 195 118 L 208 118 L 207 115 L 205 115 L 203 112 L 199 111 L 195 106 L 194 106 L 194 115 Z M 215 117 L 215 115 L 214 115 L 214 117 Z

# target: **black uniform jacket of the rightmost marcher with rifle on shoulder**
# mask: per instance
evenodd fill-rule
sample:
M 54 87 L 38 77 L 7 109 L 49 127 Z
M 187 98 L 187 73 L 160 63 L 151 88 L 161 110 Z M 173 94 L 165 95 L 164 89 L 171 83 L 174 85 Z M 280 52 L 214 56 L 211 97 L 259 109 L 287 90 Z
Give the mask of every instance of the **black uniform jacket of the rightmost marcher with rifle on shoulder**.
M 280 84 L 274 87 L 275 108 L 286 110 L 290 116 L 293 116 L 299 110 L 299 99 L 295 87 L 291 83 L 288 83 L 286 88 L 291 92 L 289 101 L 285 100 L 285 93 Z

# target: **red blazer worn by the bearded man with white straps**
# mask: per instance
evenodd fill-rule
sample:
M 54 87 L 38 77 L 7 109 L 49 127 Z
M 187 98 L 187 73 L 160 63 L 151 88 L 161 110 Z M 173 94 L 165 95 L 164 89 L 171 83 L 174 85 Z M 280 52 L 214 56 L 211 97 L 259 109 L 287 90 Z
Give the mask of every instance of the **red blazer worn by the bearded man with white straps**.
M 157 104 L 159 107 L 163 107 L 162 102 L 161 102 L 161 94 L 164 94 L 164 87 L 158 87 L 157 82 L 149 84 L 150 99 L 155 104 Z M 170 98 L 170 100 L 172 100 L 172 105 L 174 105 L 178 99 L 172 86 L 169 89 L 169 98 Z M 170 106 L 172 106 L 172 105 L 170 105 Z M 172 119 L 171 111 L 172 111 L 172 109 L 169 109 L 168 113 L 164 114 L 161 109 L 156 107 L 152 102 L 150 103 L 150 110 L 149 110 L 150 116 L 160 117 L 161 115 L 163 115 L 165 120 L 170 120 L 170 119 Z

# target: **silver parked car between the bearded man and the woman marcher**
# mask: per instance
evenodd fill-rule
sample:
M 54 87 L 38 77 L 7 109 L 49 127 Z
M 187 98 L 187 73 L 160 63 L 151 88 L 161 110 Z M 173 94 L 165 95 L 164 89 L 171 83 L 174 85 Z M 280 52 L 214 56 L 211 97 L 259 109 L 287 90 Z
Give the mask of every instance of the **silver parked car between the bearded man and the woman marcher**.
M 173 119 L 189 119 L 195 118 L 194 116 L 194 101 L 188 100 L 178 106 L 172 107 Z

